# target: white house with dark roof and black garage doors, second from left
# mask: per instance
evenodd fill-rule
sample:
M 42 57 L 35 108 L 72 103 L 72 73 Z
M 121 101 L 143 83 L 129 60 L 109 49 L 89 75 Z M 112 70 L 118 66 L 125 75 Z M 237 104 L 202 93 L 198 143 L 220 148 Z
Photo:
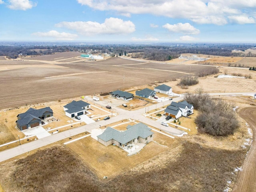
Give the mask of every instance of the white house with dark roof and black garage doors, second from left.
M 90 109 L 90 104 L 84 101 L 72 101 L 71 103 L 65 105 L 64 111 L 66 116 L 73 118 L 75 116 L 86 114 L 86 110 Z

